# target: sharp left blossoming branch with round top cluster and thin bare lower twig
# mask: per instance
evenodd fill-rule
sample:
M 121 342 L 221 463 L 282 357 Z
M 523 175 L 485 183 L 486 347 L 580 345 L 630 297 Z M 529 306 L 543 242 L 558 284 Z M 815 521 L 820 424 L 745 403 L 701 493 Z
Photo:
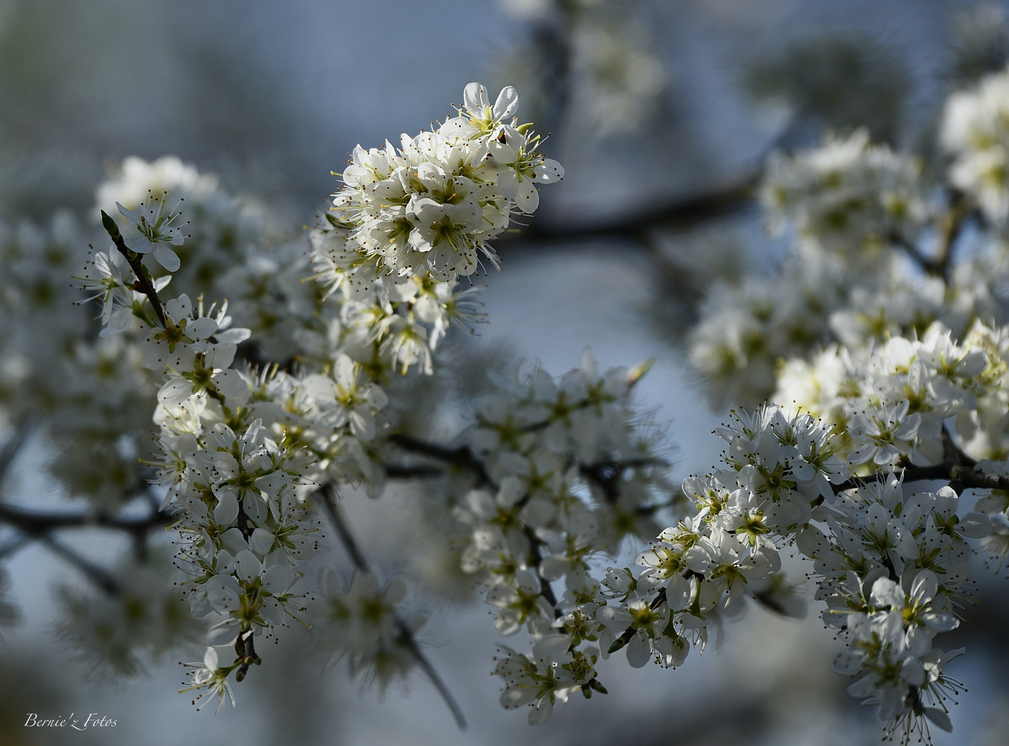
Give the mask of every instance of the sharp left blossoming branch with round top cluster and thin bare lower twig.
M 122 229 L 103 211 L 116 250 L 93 253 L 78 282 L 101 302 L 110 331 L 142 337 L 142 363 L 158 387 L 153 482 L 180 533 L 175 564 L 193 615 L 219 620 L 184 689 L 201 692 L 195 702 L 233 702 L 232 673 L 241 681 L 261 663 L 255 638 L 288 619 L 311 620 L 331 657 L 382 686 L 419 665 L 464 722 L 416 642 L 418 623 L 396 608 L 400 585 L 377 583 L 334 504 L 326 502 L 358 571 L 349 587 L 325 575 L 317 605 L 294 588 L 322 538 L 313 495 L 353 482 L 381 490 L 380 441 L 391 428 L 378 382 L 411 368 L 430 375 L 449 324 L 481 319 L 475 291 L 459 288 L 458 277 L 481 259 L 494 263 L 488 241 L 513 214 L 536 209 L 537 184 L 563 174 L 537 151 L 531 125 L 514 118 L 517 105 L 514 89 L 491 104 L 472 84 L 458 116 L 437 130 L 404 135 L 400 149 L 356 148 L 332 214 L 311 234 L 320 292 L 306 326 L 328 336 L 297 372 L 232 367 L 251 330 L 233 324 L 227 302 L 161 300 L 182 269 L 169 246 L 188 237 L 166 195 L 148 192 L 137 211 L 117 202 Z M 167 275 L 145 267 L 146 254 Z M 337 318 L 334 336 L 325 324 Z M 216 649 L 226 646 L 236 657 L 224 665 Z

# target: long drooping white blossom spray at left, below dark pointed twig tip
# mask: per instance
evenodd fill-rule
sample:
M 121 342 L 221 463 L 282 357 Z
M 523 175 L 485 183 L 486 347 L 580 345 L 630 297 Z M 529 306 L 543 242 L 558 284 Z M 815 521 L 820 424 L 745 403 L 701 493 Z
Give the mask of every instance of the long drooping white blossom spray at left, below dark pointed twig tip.
M 137 232 L 153 243 L 157 236 L 144 227 Z M 133 319 L 147 327 L 142 363 L 159 382 L 152 481 L 164 489 L 161 509 L 173 513 L 180 532 L 181 585 L 194 616 L 220 620 L 208 634 L 211 650 L 238 651 L 233 663 L 214 670 L 207 661 L 217 661 L 217 653 L 208 652 L 186 690 L 216 692 L 220 706 L 230 697 L 228 675 L 237 670 L 241 680 L 259 662 L 256 636 L 288 619 L 301 621 L 308 611 L 305 595 L 292 589 L 319 544 L 309 494 L 375 474 L 366 448 L 381 428 L 387 398 L 342 352 L 318 372 L 233 368 L 250 332 L 233 325 L 227 302 L 207 307 L 202 296 L 193 303 L 183 294 L 160 305 L 156 291 L 171 276 L 153 281 L 152 292 L 134 290 L 140 284 L 132 262 L 139 255 L 96 253 L 80 282 L 102 302 L 110 328 L 117 316 L 125 317 L 123 328 Z M 381 479 L 374 482 L 380 488 Z M 368 606 L 359 606 L 366 617 Z M 381 662 L 383 654 L 358 650 L 352 668 L 364 659 Z

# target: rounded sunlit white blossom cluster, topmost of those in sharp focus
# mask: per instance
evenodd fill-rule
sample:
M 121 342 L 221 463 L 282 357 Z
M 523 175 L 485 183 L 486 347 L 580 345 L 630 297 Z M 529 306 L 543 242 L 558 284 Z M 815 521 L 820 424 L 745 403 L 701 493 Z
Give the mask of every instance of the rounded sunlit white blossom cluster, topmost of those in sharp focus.
M 531 124 L 515 116 L 519 94 L 501 90 L 493 104 L 486 89 L 470 83 L 458 116 L 400 147 L 358 145 L 333 199 L 334 223 L 367 271 L 351 283 L 365 286 L 379 274 L 452 280 L 476 272 L 481 259 L 496 265 L 488 241 L 513 214 L 532 214 L 537 184 L 564 177 L 560 164 L 541 154 Z

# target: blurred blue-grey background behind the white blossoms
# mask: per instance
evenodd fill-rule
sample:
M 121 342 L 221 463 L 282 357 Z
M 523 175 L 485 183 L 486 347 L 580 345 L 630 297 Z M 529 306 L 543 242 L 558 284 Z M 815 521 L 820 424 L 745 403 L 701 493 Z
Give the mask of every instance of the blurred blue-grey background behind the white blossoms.
M 602 367 L 655 357 L 641 398 L 670 422 L 682 477 L 713 463 L 720 442 L 708 434 L 718 415 L 680 346 L 696 304 L 714 281 L 766 271 L 784 251 L 750 199 L 763 158 L 867 126 L 878 141 L 922 153 L 927 168 L 944 96 L 1005 65 L 1005 10 L 954 0 L 0 0 L 0 218 L 13 230 L 66 209 L 86 244 L 97 185 L 127 156 L 174 154 L 268 207 L 297 240 L 355 144 L 443 119 L 472 80 L 515 85 L 523 121 L 550 133 L 543 149 L 567 176 L 544 193 L 536 220 L 500 243 L 502 272 L 477 281 L 490 323 L 452 343 L 502 365 L 540 359 L 555 375 L 585 346 Z M 51 435 L 39 435 L 20 452 L 6 499 L 71 500 L 46 466 L 51 448 Z M 85 580 L 33 544 L 4 558 L 19 620 L 0 640 L 0 743 L 879 739 L 881 724 L 830 669 L 840 645 L 817 614 L 795 622 L 757 608 L 678 670 L 633 670 L 614 656 L 600 671 L 608 696 L 572 701 L 530 729 L 497 705 L 485 608 L 430 579 L 436 558 L 412 534 L 410 495 L 350 500 L 375 563 L 430 592 L 420 599 L 431 618 L 424 641 L 469 730 L 455 729 L 420 677 L 382 701 L 339 666 L 323 670 L 297 629 L 237 687 L 238 708 L 217 717 L 175 694 L 176 661 L 198 658 L 199 645 L 132 677 L 102 673 L 54 628 L 53 588 Z M 107 533 L 66 541 L 99 557 L 122 548 Z M 628 547 L 620 561 L 634 554 Z M 1009 601 L 1001 577 L 978 576 L 982 603 L 949 643 L 968 647 L 951 672 L 970 694 L 952 713 L 955 734 L 937 743 L 1009 743 Z M 27 713 L 99 713 L 116 726 L 32 730 L 22 727 Z

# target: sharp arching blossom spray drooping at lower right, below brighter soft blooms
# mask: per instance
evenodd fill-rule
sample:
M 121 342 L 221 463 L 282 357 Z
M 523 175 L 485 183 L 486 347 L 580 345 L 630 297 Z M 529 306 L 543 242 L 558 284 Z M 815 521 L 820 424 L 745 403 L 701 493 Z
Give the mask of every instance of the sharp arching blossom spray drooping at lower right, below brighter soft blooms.
M 874 422 L 913 444 L 919 416 L 906 416 L 907 405 Z M 970 593 L 965 539 L 986 536 L 990 519 L 959 511 L 950 487 L 912 492 L 904 483 L 920 479 L 913 467 L 856 423 L 847 430 L 856 442 L 846 443 L 829 421 L 763 406 L 717 432 L 728 444 L 722 468 L 684 483 L 698 515 L 713 531 L 771 552 L 794 542 L 813 560 L 823 620 L 848 645 L 834 668 L 858 676 L 850 694 L 879 705 L 889 735 L 927 738 L 926 720 L 950 730 L 947 701 L 960 683 L 944 667 L 963 651 L 932 643 L 959 625 L 959 602 Z M 647 553 L 639 562 L 655 564 Z

